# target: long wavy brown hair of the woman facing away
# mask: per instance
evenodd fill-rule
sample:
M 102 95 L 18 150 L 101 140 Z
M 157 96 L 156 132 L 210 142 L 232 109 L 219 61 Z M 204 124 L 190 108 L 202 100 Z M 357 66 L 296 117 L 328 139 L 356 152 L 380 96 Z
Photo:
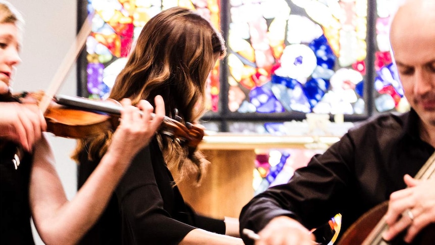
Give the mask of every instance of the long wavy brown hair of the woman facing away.
M 197 122 L 205 112 L 206 79 L 217 57 L 226 55 L 222 35 L 195 11 L 174 7 L 160 12 L 143 27 L 125 68 L 118 75 L 110 98 L 132 104 L 161 95 L 167 116 Z M 89 146 L 90 159 L 102 157 L 113 132 L 79 141 L 76 154 Z M 162 134 L 157 140 L 176 180 L 195 173 L 199 182 L 208 163 L 196 149 Z M 174 172 L 175 171 L 175 172 Z

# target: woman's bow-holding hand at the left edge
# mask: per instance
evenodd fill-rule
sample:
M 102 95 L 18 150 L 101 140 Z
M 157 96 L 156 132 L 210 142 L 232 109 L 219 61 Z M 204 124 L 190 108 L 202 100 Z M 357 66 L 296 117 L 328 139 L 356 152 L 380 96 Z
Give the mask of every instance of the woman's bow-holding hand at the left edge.
M 36 104 L 0 103 L 0 137 L 12 140 L 31 152 L 33 144 L 47 128 L 45 118 Z

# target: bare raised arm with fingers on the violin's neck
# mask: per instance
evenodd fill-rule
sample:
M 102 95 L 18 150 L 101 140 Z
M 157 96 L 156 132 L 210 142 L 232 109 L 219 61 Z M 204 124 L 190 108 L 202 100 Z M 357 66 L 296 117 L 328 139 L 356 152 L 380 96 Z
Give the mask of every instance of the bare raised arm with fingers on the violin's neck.
M 70 202 L 53 167 L 50 147 L 42 138 L 35 145 L 30 179 L 30 208 L 36 229 L 46 244 L 73 244 L 98 219 L 112 192 L 127 170 L 131 159 L 148 144 L 164 115 L 164 103 L 156 97 L 156 116 L 145 101 L 138 105 L 143 112 L 123 101 L 121 123 L 100 164 Z M 137 140 L 138 138 L 145 140 Z

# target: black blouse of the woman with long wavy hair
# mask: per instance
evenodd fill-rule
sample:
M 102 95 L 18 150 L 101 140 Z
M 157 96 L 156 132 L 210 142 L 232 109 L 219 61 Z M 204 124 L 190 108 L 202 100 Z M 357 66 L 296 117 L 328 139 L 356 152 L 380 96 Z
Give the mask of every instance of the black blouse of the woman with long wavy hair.
M 79 186 L 96 163 L 81 154 Z M 223 220 L 195 214 L 184 203 L 156 140 L 137 154 L 111 203 L 80 244 L 178 244 L 198 227 L 225 233 Z

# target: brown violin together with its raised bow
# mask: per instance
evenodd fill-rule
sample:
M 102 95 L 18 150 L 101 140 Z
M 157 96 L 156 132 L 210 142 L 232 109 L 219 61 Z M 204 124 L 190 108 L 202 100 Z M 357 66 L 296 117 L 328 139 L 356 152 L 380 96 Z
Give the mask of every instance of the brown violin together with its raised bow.
M 60 69 L 52 78 L 48 89 L 45 92 L 31 93 L 38 102 L 38 107 L 44 114 L 47 123 L 47 131 L 57 136 L 68 138 L 84 138 L 97 135 L 107 130 L 115 130 L 119 125 L 119 116 L 122 107 L 119 105 L 110 106 L 108 103 L 91 101 L 82 97 L 63 97 L 62 101 L 79 101 L 75 105 L 61 105 L 54 98 L 59 90 L 70 68 L 80 54 L 88 34 L 91 32 L 91 22 L 94 13 L 90 13 L 84 21 L 75 42 L 70 47 L 68 54 L 61 63 Z M 0 95 L 0 101 L 18 101 L 27 96 L 27 93 L 21 95 L 7 94 Z M 5 97 L 5 98 L 4 98 Z M 60 96 L 62 97 L 62 96 Z M 5 99 L 5 100 L 4 100 Z M 59 100 L 61 101 L 61 100 Z M 83 102 L 83 103 L 82 103 Z M 90 103 L 92 102 L 92 103 Z M 96 103 L 96 111 L 91 104 Z M 111 108 L 107 111 L 107 108 Z M 182 144 L 186 144 L 190 150 L 195 149 L 204 136 L 204 130 L 191 123 L 182 123 L 181 120 L 175 120 L 165 117 L 159 128 L 162 134 L 174 138 Z M 4 142 L 0 142 L 0 149 L 3 148 Z M 20 165 L 20 159 L 23 156 L 23 149 L 17 146 L 14 156 L 15 169 Z

